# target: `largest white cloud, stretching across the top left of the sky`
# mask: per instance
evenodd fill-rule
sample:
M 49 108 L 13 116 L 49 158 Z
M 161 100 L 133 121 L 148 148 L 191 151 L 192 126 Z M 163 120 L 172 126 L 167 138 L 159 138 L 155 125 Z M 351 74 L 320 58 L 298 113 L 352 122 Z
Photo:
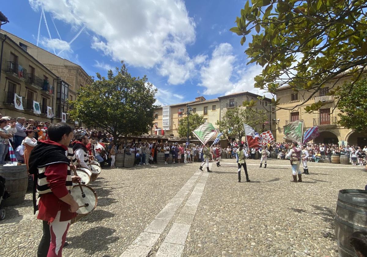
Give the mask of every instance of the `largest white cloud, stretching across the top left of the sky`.
M 195 22 L 183 0 L 29 0 L 53 17 L 94 32 L 91 47 L 129 65 L 157 68 L 180 84 L 195 70 L 186 45 L 195 41 Z

